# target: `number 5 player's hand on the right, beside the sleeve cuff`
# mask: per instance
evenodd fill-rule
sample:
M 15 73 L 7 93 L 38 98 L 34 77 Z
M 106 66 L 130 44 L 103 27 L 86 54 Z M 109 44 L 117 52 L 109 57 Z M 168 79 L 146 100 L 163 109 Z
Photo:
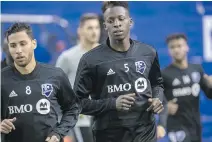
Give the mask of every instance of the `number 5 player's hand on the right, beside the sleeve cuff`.
M 158 98 L 149 98 L 148 102 L 150 104 L 150 107 L 147 108 L 147 111 L 153 111 L 154 113 L 161 113 L 163 111 L 163 104 Z

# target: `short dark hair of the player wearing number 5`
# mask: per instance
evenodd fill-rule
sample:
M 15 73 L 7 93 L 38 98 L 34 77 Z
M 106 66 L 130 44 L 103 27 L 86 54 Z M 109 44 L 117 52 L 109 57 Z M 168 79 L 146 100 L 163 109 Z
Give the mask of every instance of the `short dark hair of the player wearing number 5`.
M 105 1 L 103 2 L 103 5 L 102 5 L 102 13 L 105 13 L 105 11 L 108 8 L 115 7 L 115 6 L 124 7 L 129 11 L 129 5 L 127 1 Z

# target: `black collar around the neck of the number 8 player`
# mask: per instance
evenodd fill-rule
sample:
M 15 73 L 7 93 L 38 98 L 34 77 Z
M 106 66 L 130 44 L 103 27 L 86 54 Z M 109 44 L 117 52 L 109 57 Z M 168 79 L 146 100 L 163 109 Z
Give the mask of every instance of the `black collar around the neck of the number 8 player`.
M 14 73 L 17 77 L 19 77 L 22 80 L 32 80 L 35 79 L 39 73 L 40 64 L 36 62 L 35 69 L 29 73 L 29 74 L 21 74 L 16 68 L 15 65 L 13 65 Z

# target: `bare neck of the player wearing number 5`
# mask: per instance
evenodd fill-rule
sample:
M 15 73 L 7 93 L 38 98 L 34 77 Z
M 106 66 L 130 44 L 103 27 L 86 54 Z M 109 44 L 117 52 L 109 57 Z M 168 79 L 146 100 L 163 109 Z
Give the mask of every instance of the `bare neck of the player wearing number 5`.
M 121 51 L 121 52 L 127 51 L 130 48 L 130 38 L 127 37 L 121 41 L 110 39 L 110 46 L 116 51 Z

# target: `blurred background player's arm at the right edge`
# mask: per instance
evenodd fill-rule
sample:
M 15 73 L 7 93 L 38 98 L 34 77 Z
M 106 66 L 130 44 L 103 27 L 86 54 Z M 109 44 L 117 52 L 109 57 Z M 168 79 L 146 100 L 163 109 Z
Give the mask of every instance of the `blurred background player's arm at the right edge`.
M 200 67 L 200 73 L 201 73 L 201 80 L 200 80 L 201 89 L 204 91 L 205 95 L 209 99 L 212 99 L 212 77 L 204 74 L 204 70 L 202 67 Z

